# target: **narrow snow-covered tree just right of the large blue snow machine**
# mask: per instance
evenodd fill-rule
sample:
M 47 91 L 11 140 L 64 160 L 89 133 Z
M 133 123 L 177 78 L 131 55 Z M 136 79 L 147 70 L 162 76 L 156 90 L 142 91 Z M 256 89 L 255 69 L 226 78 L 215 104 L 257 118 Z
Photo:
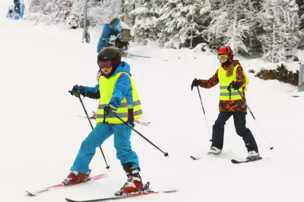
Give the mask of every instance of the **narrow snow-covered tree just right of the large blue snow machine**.
M 133 25 L 136 40 L 147 44 L 148 41 L 157 40 L 157 31 L 154 23 L 157 20 L 158 1 L 157 0 L 134 0 L 132 2 L 135 9 L 128 15 L 135 19 Z

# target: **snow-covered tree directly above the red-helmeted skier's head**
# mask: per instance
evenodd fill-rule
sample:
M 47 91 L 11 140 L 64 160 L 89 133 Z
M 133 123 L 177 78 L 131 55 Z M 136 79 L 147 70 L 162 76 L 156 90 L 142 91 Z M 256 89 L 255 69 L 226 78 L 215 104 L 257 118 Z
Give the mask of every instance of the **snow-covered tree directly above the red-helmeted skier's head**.
M 209 0 L 211 8 L 201 10 L 210 12 L 210 25 L 203 32 L 211 46 L 230 45 L 235 53 L 248 52 L 243 40 L 249 34 L 255 19 L 255 9 L 251 0 Z M 209 6 L 210 7 L 210 6 Z

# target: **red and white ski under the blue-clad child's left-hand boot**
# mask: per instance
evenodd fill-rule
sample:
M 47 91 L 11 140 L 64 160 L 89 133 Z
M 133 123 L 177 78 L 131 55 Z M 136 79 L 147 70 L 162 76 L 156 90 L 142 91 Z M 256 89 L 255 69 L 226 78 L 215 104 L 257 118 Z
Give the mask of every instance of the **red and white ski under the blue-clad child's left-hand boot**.
M 90 180 L 99 180 L 99 179 L 105 178 L 105 177 L 107 177 L 107 175 L 100 174 L 100 175 L 96 175 L 96 176 L 90 177 Z M 62 189 L 62 188 L 68 187 L 68 186 L 74 186 L 74 185 L 77 185 L 77 184 L 83 184 L 83 183 L 89 182 L 90 180 L 84 181 L 84 182 L 77 182 L 77 183 L 74 183 L 74 184 L 71 184 L 71 185 L 56 184 L 54 186 L 49 186 L 49 187 L 46 187 L 46 188 L 43 188 L 43 189 L 40 189 L 40 190 L 25 191 L 25 192 L 27 192 L 31 196 L 37 196 L 37 195 L 41 195 L 41 194 L 44 194 L 44 193 L 48 193 L 50 191 L 55 191 L 55 190 L 58 190 L 58 189 Z

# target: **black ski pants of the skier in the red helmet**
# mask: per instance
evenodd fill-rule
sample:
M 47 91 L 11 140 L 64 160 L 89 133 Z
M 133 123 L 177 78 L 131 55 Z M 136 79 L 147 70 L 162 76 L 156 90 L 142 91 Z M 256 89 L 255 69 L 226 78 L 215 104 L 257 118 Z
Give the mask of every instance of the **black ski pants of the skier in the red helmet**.
M 224 125 L 226 124 L 226 121 L 233 116 L 237 134 L 243 138 L 247 150 L 258 152 L 256 141 L 251 131 L 246 128 L 246 114 L 246 112 L 241 111 L 219 112 L 217 120 L 213 125 L 211 146 L 215 146 L 222 150 L 224 143 Z

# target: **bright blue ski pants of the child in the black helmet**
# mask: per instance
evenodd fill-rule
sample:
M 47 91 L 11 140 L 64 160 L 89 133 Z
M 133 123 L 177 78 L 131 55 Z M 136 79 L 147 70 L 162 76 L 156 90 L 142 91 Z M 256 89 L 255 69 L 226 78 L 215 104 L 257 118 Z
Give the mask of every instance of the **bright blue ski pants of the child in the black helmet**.
M 116 157 L 121 161 L 121 165 L 123 166 L 126 163 L 133 163 L 134 168 L 138 168 L 138 157 L 131 148 L 131 132 L 131 128 L 125 124 L 98 123 L 82 142 L 77 157 L 70 170 L 87 173 L 89 170 L 89 164 L 96 153 L 96 147 L 99 147 L 112 134 L 114 134 Z

